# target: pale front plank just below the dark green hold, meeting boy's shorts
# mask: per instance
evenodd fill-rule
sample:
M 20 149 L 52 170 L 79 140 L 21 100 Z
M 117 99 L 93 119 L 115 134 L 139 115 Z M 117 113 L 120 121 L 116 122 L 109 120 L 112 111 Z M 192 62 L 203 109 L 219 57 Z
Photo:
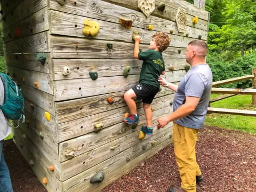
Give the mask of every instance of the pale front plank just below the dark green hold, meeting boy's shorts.
M 185 76 L 185 73 L 185 70 L 167 72 L 165 77 L 168 82 L 178 82 Z M 61 101 L 125 91 L 138 83 L 138 80 L 139 75 L 129 75 L 126 78 L 123 76 L 99 77 L 95 81 L 89 78 L 55 81 L 55 100 Z

